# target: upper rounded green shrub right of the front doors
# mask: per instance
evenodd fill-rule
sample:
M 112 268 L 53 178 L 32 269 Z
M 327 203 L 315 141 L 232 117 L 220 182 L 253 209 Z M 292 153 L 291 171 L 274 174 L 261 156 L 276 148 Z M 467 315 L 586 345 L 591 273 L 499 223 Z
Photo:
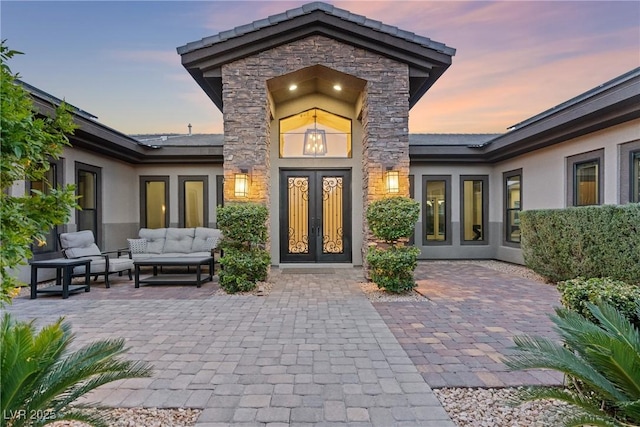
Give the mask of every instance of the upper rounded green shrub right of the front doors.
M 409 237 L 418 221 L 420 204 L 408 197 L 389 197 L 367 208 L 369 229 L 380 240 L 395 242 Z

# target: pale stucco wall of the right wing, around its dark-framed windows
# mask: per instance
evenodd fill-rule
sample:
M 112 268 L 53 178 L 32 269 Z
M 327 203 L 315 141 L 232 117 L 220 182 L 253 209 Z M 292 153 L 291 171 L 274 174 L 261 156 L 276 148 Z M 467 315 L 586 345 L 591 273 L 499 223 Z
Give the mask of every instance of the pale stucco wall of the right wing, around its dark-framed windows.
M 617 204 L 620 202 L 620 188 L 628 189 L 629 179 L 628 172 L 621 172 L 621 144 L 625 144 L 625 147 L 635 147 L 636 144 L 640 144 L 640 120 L 574 138 L 495 165 L 429 163 L 412 165 L 411 174 L 415 177 L 416 200 L 420 201 L 421 205 L 424 204 L 423 175 L 451 175 L 452 177 L 452 243 L 445 246 L 423 245 L 421 216 L 416 227 L 416 245 L 421 247 L 421 257 L 424 259 L 496 258 L 523 263 L 522 251 L 518 247 L 503 244 L 503 173 L 522 169 L 522 208 L 524 210 L 565 208 L 568 205 L 568 173 L 572 173 L 567 171 L 567 157 L 603 149 L 604 160 L 601 166 L 604 168 L 603 203 Z M 489 175 L 489 244 L 471 247 L 461 245 L 459 176 L 485 174 Z

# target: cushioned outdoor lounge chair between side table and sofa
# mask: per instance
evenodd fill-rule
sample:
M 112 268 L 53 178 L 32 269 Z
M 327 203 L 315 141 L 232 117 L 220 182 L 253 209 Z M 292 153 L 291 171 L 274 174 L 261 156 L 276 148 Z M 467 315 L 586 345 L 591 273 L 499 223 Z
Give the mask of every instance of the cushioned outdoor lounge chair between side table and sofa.
M 96 245 L 95 237 L 91 230 L 61 233 L 58 239 L 65 258 L 91 259 L 91 275 L 95 276 L 94 280 L 97 280 L 98 276 L 104 276 L 104 283 L 107 288 L 110 287 L 109 275 L 113 273 L 118 273 L 118 275 L 122 276 L 122 273 L 127 271 L 129 280 L 132 280 L 131 270 L 133 269 L 133 260 L 120 258 L 118 256 L 113 258 L 109 257 L 110 253 L 120 255 L 120 252 L 124 252 L 125 249 L 101 252 Z M 76 267 L 73 270 L 74 277 L 84 274 L 84 266 Z

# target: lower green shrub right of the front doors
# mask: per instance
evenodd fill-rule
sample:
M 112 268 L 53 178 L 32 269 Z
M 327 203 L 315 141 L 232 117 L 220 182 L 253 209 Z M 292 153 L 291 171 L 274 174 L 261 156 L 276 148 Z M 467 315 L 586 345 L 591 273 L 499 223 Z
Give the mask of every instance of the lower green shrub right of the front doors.
M 416 286 L 413 271 L 418 265 L 420 249 L 413 246 L 370 247 L 367 254 L 371 280 L 389 292 L 408 292 Z

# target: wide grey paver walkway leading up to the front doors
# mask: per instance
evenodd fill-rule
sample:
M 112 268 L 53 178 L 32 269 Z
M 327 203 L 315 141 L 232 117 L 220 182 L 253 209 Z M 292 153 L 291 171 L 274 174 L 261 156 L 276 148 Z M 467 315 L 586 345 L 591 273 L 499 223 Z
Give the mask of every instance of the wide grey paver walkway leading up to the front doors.
M 64 315 L 79 344 L 124 337 L 131 358 L 155 365 L 152 378 L 94 392 L 102 405 L 202 408 L 201 427 L 453 427 L 362 280 L 360 269 L 274 269 L 270 295 L 246 297 L 213 295 L 211 283 L 135 290 L 116 278 L 108 290 L 22 297 L 8 310 L 39 324 Z

